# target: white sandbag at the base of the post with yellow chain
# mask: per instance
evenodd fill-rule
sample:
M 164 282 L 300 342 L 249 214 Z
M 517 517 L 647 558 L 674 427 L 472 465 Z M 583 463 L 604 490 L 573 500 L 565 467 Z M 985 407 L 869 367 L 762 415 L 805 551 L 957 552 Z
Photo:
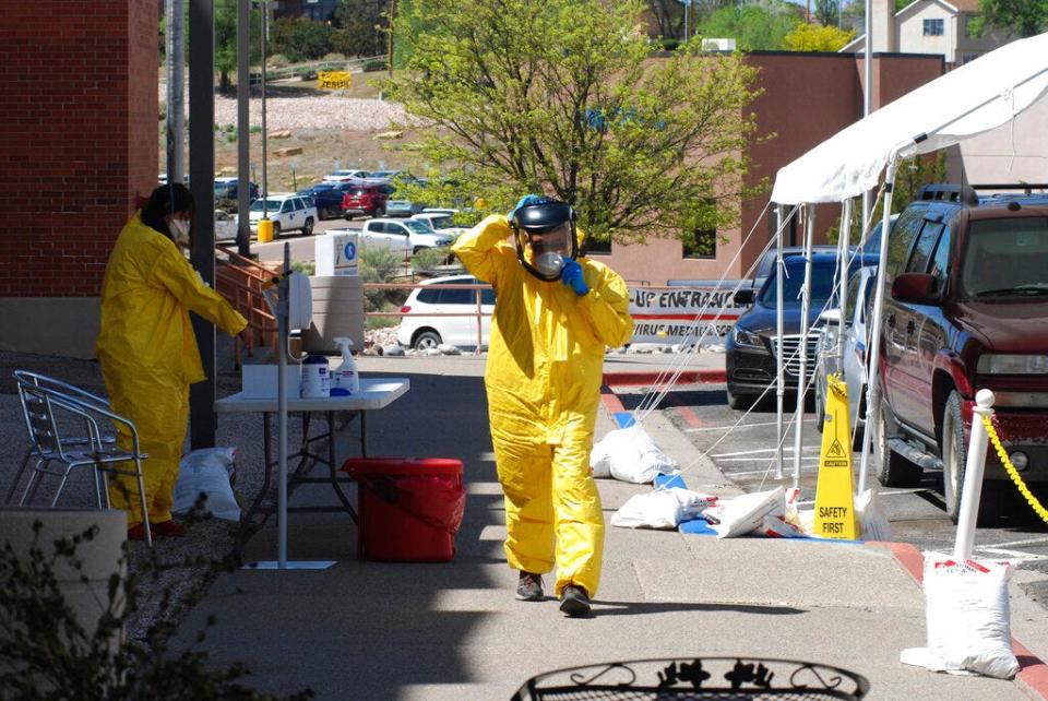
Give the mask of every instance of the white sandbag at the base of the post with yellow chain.
M 925 554 L 928 669 L 1000 679 L 1019 673 L 1009 623 L 1011 574 L 1008 562 L 957 562 L 940 553 Z

